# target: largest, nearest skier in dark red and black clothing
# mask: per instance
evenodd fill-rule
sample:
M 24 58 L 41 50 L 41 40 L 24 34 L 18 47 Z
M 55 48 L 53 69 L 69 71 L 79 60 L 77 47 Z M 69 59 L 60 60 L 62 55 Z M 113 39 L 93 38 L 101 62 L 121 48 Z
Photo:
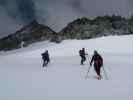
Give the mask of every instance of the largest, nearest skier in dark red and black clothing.
M 98 75 L 97 78 L 101 79 L 100 69 L 103 66 L 103 58 L 96 50 L 94 50 L 94 55 L 92 56 L 90 66 L 92 66 L 93 62 L 94 62 L 94 69 Z

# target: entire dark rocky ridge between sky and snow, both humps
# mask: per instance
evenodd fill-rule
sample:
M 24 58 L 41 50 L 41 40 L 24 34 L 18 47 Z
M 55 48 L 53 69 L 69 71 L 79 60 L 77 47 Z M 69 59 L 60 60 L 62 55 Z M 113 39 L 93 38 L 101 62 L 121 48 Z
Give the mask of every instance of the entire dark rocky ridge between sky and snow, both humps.
M 59 33 L 33 20 L 14 34 L 0 39 L 0 50 L 17 49 L 46 40 L 59 43 L 64 39 L 90 39 L 128 34 L 133 34 L 133 16 L 98 16 L 94 19 L 83 17 L 69 23 Z

